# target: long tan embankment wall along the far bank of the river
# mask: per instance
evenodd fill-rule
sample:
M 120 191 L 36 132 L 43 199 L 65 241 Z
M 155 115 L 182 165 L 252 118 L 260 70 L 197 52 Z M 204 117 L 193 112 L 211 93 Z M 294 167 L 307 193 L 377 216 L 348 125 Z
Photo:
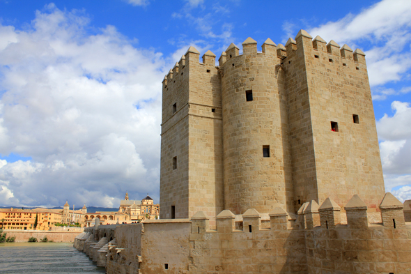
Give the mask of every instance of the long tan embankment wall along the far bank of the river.
M 75 241 L 77 235 L 82 233 L 82 231 L 41 231 L 41 230 L 26 230 L 26 231 L 15 231 L 12 229 L 5 229 L 3 233 L 7 233 L 7 237 L 16 237 L 16 243 L 24 243 L 29 241 L 29 238 L 37 238 L 37 241 L 47 237 L 49 241 L 56 243 L 72 243 Z

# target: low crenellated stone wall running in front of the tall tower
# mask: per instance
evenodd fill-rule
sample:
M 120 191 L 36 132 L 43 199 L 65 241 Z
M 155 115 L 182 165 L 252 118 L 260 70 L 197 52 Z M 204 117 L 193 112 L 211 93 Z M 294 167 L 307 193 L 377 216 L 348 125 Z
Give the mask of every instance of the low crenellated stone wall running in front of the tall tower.
M 91 256 L 107 273 L 411 273 L 411 223 L 394 196 L 382 200 L 380 224 L 369 223 L 357 195 L 344 209 L 347 224 L 331 199 L 303 204 L 297 220 L 275 208 L 269 226 L 255 209 L 222 211 L 217 229 L 203 211 L 191 219 L 121 224 Z M 104 227 L 85 231 L 75 245 L 81 250 L 87 236 L 85 252 L 102 245 Z

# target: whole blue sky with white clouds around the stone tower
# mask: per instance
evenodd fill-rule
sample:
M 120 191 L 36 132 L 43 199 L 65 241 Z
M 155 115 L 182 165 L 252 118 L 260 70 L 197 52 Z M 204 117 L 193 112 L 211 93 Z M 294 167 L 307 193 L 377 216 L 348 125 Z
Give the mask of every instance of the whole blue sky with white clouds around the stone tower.
M 160 189 L 162 78 L 300 29 L 366 53 L 386 190 L 411 199 L 411 1 L 0 0 L 0 201 L 118 206 Z

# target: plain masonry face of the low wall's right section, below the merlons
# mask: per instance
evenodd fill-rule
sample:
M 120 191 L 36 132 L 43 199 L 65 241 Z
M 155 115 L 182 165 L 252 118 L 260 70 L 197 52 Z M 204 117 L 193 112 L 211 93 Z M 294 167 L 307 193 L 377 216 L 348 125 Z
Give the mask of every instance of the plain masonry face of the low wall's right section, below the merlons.
M 411 226 L 305 231 L 308 273 L 411 273 Z

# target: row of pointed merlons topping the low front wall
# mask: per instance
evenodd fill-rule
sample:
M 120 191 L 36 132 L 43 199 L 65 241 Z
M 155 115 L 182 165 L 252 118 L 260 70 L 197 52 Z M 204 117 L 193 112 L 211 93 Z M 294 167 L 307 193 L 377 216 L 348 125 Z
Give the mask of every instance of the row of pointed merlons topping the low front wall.
M 283 208 L 276 207 L 268 214 L 269 227 L 262 226 L 262 220 L 267 220 L 267 215 L 258 213 L 254 208 L 249 208 L 241 215 L 235 215 L 226 209 L 217 215 L 215 229 L 210 229 L 208 215 L 203 211 L 198 211 L 191 218 L 192 233 L 203 234 L 212 231 L 219 233 L 239 231 L 250 233 L 252 231 L 287 229 L 332 229 L 335 227 L 368 229 L 370 227 L 379 227 L 378 224 L 369 223 L 366 213 L 367 206 L 358 195 L 353 195 L 344 208 L 346 210 L 346 223 L 341 223 L 341 207 L 329 197 L 325 199 L 321 206 L 318 206 L 314 200 L 304 203 L 298 210 L 297 222 L 294 222 L 294 219 Z M 382 199 L 380 209 L 382 220 L 380 225 L 382 227 L 387 229 L 405 228 L 403 204 L 394 195 L 387 192 Z M 241 224 L 238 225 L 238 222 Z

